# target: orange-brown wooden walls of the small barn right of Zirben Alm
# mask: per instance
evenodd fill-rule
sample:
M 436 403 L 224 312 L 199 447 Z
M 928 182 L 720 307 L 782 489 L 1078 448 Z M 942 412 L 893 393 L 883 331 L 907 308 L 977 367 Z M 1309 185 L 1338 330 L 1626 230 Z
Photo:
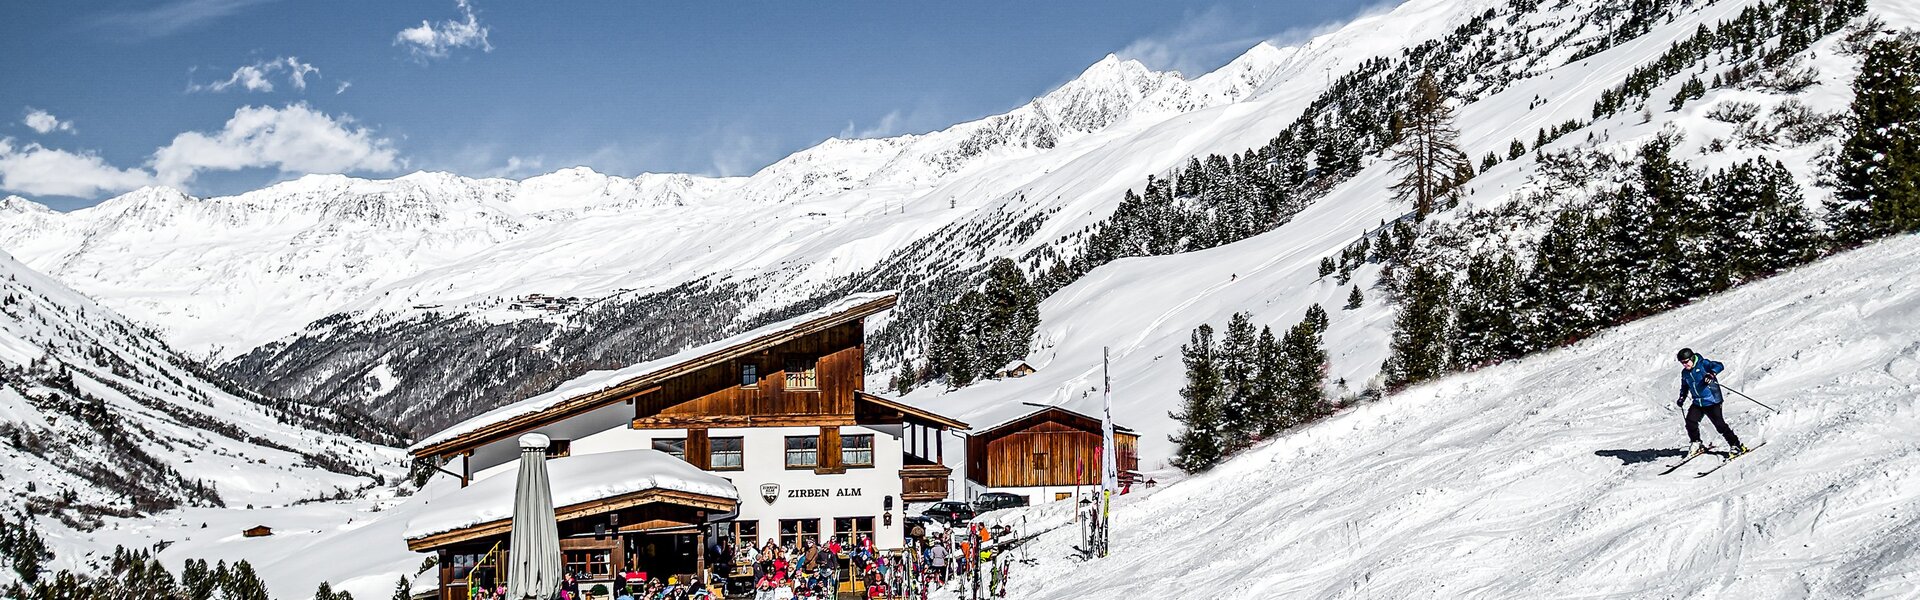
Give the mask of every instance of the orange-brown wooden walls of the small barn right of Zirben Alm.
M 1140 437 L 1116 427 L 1116 465 L 1121 479 L 1140 469 Z M 1025 417 L 968 437 L 968 481 L 989 488 L 1098 485 L 1100 419 L 1064 408 L 1043 408 Z

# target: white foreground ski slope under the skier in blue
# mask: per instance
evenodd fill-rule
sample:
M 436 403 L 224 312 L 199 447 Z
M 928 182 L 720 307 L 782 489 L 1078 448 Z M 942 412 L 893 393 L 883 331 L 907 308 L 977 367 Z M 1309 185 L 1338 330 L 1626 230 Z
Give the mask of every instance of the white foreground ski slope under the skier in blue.
M 1916 598 L 1914 254 L 1872 244 L 1344 412 L 1123 498 L 1106 560 L 1037 537 L 1008 598 Z M 1680 346 L 1780 410 L 1730 396 L 1766 448 L 1703 479 L 1716 458 L 1657 475 L 1686 444 Z

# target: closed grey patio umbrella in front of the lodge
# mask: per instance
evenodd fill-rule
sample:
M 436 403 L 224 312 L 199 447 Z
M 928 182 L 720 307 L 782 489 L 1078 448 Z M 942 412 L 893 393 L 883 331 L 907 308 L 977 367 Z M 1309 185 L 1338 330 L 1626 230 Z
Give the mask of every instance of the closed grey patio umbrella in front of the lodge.
M 520 437 L 513 533 L 507 540 L 507 598 L 513 600 L 549 600 L 561 590 L 561 531 L 553 523 L 547 444 L 545 435 Z

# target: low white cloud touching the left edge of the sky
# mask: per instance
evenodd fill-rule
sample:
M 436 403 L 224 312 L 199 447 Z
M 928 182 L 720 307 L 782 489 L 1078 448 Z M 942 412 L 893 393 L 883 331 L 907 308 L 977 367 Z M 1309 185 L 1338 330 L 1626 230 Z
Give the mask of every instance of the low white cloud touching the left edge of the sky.
M 13 146 L 0 138 L 0 188 L 31 196 L 92 198 L 100 192 L 123 192 L 152 183 L 140 169 L 115 169 L 94 154 L 44 148 L 40 144 Z

